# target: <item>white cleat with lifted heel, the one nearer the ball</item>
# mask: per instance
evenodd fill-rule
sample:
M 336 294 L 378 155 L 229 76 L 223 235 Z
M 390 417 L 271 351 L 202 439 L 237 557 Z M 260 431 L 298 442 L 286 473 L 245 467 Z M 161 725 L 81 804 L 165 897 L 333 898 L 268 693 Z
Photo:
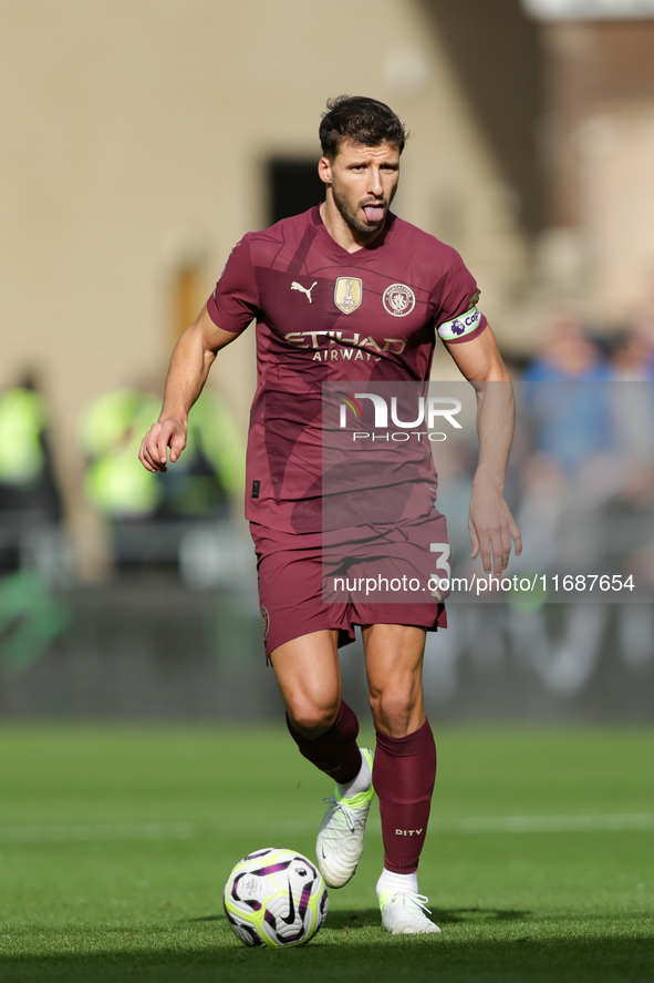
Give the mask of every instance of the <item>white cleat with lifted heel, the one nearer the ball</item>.
M 362 748 L 361 754 L 365 756 L 372 772 L 373 752 Z M 341 799 L 338 789 L 329 799 L 323 799 L 323 802 L 329 802 L 329 809 L 318 831 L 315 856 L 318 869 L 329 888 L 342 888 L 356 871 L 374 793 L 371 785 L 367 791 L 351 799 Z

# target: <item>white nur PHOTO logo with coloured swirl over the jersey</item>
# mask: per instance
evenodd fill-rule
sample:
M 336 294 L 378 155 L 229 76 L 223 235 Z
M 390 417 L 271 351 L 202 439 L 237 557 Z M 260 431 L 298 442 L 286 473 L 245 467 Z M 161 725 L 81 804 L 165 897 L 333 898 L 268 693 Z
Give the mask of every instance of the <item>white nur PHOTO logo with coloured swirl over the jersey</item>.
M 412 439 L 417 441 L 426 439 L 432 442 L 439 442 L 447 440 L 447 432 L 437 430 L 437 427 L 448 424 L 449 428 L 455 430 L 463 429 L 463 424 L 456 419 L 456 416 L 461 411 L 461 402 L 455 397 L 416 396 L 413 400 L 408 400 L 405 396 L 402 399 L 402 407 L 399 407 L 397 396 L 386 398 L 375 392 L 355 392 L 353 396 L 350 396 L 339 389 L 334 390 L 334 395 L 341 403 L 339 416 L 340 429 L 350 429 L 347 410 L 353 414 L 355 426 L 359 424 L 362 428 L 352 431 L 352 440 L 354 442 L 394 440 L 397 443 L 404 443 Z M 366 405 L 367 414 L 364 414 L 361 400 L 370 401 Z M 372 403 L 372 408 L 370 403 Z M 363 426 L 365 426 L 364 416 L 370 417 L 371 409 L 372 420 L 370 422 L 372 422 L 372 427 L 368 422 L 368 429 L 363 430 Z M 409 419 L 404 419 L 405 414 L 408 414 Z M 422 427 L 426 429 L 419 429 Z

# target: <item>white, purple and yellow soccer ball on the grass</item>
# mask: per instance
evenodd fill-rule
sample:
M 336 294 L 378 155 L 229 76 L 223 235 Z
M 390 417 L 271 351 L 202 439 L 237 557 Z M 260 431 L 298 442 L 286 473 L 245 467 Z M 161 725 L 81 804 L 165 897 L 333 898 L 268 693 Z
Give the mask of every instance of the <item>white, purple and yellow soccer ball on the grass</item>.
M 246 945 L 304 945 L 322 925 L 328 892 L 320 871 L 293 850 L 248 853 L 225 884 L 225 914 Z

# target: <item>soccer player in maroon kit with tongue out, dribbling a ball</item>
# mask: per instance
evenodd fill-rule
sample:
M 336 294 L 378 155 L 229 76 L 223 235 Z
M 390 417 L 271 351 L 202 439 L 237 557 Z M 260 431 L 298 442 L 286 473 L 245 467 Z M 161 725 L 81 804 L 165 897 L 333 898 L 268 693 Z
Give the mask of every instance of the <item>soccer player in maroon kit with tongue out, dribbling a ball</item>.
M 246 514 L 257 551 L 266 652 L 291 737 L 336 782 L 316 842 L 318 864 L 332 888 L 356 870 L 374 786 L 384 842 L 377 897 L 383 925 L 394 934 L 440 931 L 427 918 L 417 867 L 436 776 L 423 652 L 425 632 L 445 625 L 444 605 L 438 598 L 323 603 L 322 383 L 419 383 L 429 378 L 438 334 L 477 389 L 473 557 L 480 554 L 485 571 L 500 574 L 511 537 L 520 551 L 502 495 L 512 392 L 509 383 L 490 397 L 485 386 L 508 383 L 509 377 L 459 255 L 388 211 L 405 139 L 384 103 L 363 96 L 328 103 L 319 163 L 325 201 L 247 234 L 233 247 L 212 296 L 175 348 L 162 414 L 141 450 L 150 471 L 166 470 L 168 449 L 172 462 L 179 458 L 189 410 L 217 352 L 256 319 L 258 386 Z M 381 532 L 375 522 L 375 534 L 406 540 L 408 550 L 425 523 L 443 521 L 432 514 L 434 489 L 425 477 L 395 479 L 398 500 L 411 500 L 413 511 L 408 520 L 383 523 Z M 396 499 L 397 489 L 391 491 Z M 363 636 L 374 761 L 372 751 L 359 748 L 356 716 L 341 696 L 338 649 L 352 641 L 354 625 Z

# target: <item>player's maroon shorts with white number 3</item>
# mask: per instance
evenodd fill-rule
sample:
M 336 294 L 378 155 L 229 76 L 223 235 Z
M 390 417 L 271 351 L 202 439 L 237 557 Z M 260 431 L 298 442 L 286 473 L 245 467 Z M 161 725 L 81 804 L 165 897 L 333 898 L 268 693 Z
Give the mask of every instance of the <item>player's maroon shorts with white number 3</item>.
M 445 516 L 334 533 L 294 534 L 250 523 L 257 550 L 266 655 L 312 632 L 334 628 L 339 646 L 355 625 L 447 625 L 433 596 L 447 553 Z M 445 562 L 445 561 L 443 561 Z M 433 578 L 435 575 L 435 580 Z M 417 600 L 419 597 L 419 600 Z

